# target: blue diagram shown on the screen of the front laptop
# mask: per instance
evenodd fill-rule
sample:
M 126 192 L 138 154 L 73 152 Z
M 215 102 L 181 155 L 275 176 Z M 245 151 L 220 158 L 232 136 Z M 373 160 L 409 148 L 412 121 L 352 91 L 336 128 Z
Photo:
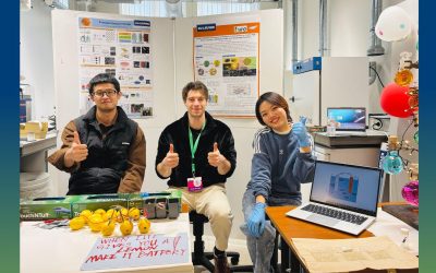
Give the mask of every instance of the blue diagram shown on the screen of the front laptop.
M 358 200 L 359 177 L 350 173 L 330 176 L 328 191 L 331 198 L 354 202 Z

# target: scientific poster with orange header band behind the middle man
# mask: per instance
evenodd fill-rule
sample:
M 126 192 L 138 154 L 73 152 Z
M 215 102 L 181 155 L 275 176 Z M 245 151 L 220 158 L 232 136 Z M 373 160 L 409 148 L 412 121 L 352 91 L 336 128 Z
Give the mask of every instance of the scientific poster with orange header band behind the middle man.
M 259 33 L 259 22 L 194 26 L 194 75 L 209 90 L 208 111 L 211 115 L 255 116 Z

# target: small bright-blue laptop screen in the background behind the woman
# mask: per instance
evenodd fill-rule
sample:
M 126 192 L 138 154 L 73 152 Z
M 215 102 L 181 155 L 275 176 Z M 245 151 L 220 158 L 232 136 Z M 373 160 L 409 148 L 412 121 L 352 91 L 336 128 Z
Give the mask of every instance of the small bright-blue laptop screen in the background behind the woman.
M 329 107 L 327 119 L 334 120 L 337 131 L 365 131 L 366 110 L 364 107 Z

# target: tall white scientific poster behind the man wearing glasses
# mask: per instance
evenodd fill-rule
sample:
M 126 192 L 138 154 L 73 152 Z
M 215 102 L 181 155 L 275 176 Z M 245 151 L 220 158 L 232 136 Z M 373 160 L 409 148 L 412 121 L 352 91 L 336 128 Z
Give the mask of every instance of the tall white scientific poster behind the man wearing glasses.
M 88 83 L 98 73 L 110 73 L 121 85 L 119 100 L 130 118 L 153 117 L 150 21 L 78 16 L 81 114 L 94 104 Z

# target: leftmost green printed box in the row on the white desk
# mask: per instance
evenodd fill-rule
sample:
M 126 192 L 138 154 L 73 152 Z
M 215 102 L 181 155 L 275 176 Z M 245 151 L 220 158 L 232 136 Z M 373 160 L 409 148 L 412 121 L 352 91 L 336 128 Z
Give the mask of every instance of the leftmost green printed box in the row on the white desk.
M 71 218 L 71 203 L 81 198 L 81 195 L 68 195 L 21 200 L 20 218 L 24 221 Z

